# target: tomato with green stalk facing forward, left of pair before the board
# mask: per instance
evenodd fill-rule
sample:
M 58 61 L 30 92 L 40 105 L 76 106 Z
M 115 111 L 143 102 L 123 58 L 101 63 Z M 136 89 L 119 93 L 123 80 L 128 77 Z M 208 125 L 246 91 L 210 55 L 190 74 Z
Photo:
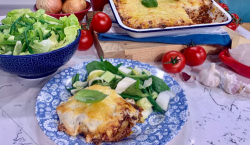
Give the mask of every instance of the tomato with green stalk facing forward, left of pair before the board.
M 162 57 L 162 66 L 168 73 L 181 72 L 186 64 L 185 57 L 178 51 L 169 51 Z

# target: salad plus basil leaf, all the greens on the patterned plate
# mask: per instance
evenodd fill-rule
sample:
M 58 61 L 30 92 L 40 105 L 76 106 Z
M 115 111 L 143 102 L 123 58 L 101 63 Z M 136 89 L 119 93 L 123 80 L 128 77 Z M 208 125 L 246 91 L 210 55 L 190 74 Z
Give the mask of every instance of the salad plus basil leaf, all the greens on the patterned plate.
M 146 119 L 153 111 L 165 114 L 171 98 L 176 94 L 169 86 L 150 71 L 142 68 L 125 67 L 122 63 L 114 66 L 108 60 L 92 61 L 86 65 L 87 78 L 80 80 L 76 73 L 66 89 L 76 100 L 84 103 L 97 103 L 107 97 L 98 90 L 88 90 L 92 85 L 109 86 L 117 94 L 143 109 Z

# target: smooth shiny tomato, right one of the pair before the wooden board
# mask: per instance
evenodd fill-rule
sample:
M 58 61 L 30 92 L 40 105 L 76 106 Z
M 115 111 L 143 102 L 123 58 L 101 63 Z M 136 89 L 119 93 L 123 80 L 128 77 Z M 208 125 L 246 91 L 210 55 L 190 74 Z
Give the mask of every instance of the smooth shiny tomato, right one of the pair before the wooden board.
M 183 55 L 186 58 L 186 64 L 189 66 L 201 65 L 207 58 L 207 53 L 201 46 L 188 47 L 184 50 Z

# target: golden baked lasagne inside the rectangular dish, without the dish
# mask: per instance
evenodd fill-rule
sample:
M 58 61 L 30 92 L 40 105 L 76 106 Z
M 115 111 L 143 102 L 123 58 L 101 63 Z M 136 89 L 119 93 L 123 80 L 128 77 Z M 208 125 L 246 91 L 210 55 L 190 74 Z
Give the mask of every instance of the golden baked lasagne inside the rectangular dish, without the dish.
M 157 0 L 147 8 L 141 0 L 113 0 L 124 25 L 135 29 L 165 28 L 211 23 L 211 0 Z

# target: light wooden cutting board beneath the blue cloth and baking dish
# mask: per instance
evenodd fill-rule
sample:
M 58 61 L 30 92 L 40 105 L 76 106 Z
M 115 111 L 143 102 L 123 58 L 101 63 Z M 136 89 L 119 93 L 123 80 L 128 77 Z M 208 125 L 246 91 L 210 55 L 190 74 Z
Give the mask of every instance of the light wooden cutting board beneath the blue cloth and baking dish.
M 89 12 L 87 17 L 93 17 L 96 12 Z M 223 27 L 230 35 L 241 36 L 235 31 L 227 27 Z M 103 58 L 125 58 L 142 62 L 160 61 L 162 56 L 171 50 L 182 51 L 185 46 L 177 44 L 164 44 L 152 42 L 131 42 L 131 41 L 100 41 L 98 34 L 93 33 L 94 45 L 99 56 Z M 219 53 L 223 46 L 220 45 L 201 45 L 206 50 L 207 54 Z

